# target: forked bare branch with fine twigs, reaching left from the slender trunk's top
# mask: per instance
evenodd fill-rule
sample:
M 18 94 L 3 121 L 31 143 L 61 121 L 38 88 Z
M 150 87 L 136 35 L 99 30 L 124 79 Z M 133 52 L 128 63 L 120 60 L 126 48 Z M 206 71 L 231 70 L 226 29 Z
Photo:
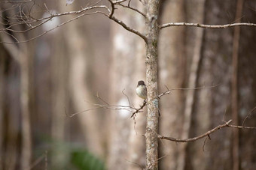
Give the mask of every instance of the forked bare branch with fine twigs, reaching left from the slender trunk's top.
M 4 22 L 1 23 L 2 25 L 5 25 L 5 28 L 0 28 L 0 33 L 4 33 L 4 34 L 7 34 L 8 32 L 13 32 L 13 33 L 17 33 L 17 34 L 24 33 L 24 32 L 27 32 L 27 31 L 32 31 L 33 29 L 38 28 L 41 25 L 44 25 L 46 22 L 50 22 L 51 19 L 56 18 L 56 17 L 73 16 L 73 15 L 75 17 L 73 17 L 72 19 L 67 20 L 66 22 L 62 22 L 59 25 L 56 25 L 54 28 L 50 28 L 49 30 L 44 31 L 43 33 L 38 34 L 37 36 L 32 37 L 29 40 L 20 41 L 20 40 L 16 40 L 14 38 L 17 42 L 1 42 L 1 43 L 25 43 L 25 42 L 28 42 L 30 40 L 34 40 L 35 38 L 41 37 L 44 34 L 47 34 L 47 32 L 53 31 L 55 28 L 58 28 L 62 25 L 65 25 L 66 23 L 69 23 L 69 22 L 71 22 L 75 19 L 78 19 L 81 16 L 92 15 L 92 14 L 96 14 L 96 13 L 101 13 L 104 16 L 107 16 L 109 19 L 111 19 L 114 22 L 117 22 L 117 24 L 123 26 L 123 28 L 125 28 L 127 31 L 130 31 L 134 34 L 139 35 L 139 37 L 142 37 L 142 39 L 145 40 L 145 42 L 146 42 L 147 37 L 145 36 L 145 34 L 142 34 L 141 32 L 137 31 L 134 28 L 130 28 L 128 25 L 126 25 L 125 22 L 123 22 L 123 21 L 117 19 L 116 17 L 114 17 L 115 5 L 119 5 L 119 6 L 122 6 L 122 7 L 128 7 L 131 10 L 135 10 L 136 12 L 142 14 L 143 16 L 145 16 L 145 14 L 140 12 L 139 10 L 136 10 L 133 7 L 121 4 L 121 3 L 123 3 L 124 1 L 127 1 L 127 0 L 119 0 L 119 1 L 108 0 L 108 1 L 111 4 L 111 7 L 108 7 L 107 5 L 93 4 L 90 7 L 83 7 L 81 10 L 69 11 L 69 12 L 64 12 L 64 13 L 52 13 L 52 12 L 50 12 L 50 10 L 48 10 L 47 6 L 44 4 L 45 12 L 48 13 L 49 16 L 45 16 L 45 17 L 38 18 L 38 19 L 33 17 L 32 12 L 31 12 L 32 7 L 29 9 L 29 13 L 25 13 L 23 11 L 24 7 L 22 6 L 22 4 L 25 4 L 25 3 L 20 2 L 20 4 L 15 4 L 15 5 L 11 6 L 8 9 L 1 10 L 1 16 L 0 17 L 2 17 L 2 20 L 5 21 L 6 23 L 4 23 Z M 12 2 L 6 1 L 6 3 L 11 4 Z M 15 13 L 12 16 L 5 17 L 4 12 L 6 12 L 7 10 L 15 10 L 15 8 L 19 9 L 18 13 Z M 20 14 L 20 13 L 22 13 L 22 14 Z M 23 25 L 23 24 L 27 25 L 25 29 L 23 29 L 23 30 L 16 30 L 15 29 L 15 26 Z

